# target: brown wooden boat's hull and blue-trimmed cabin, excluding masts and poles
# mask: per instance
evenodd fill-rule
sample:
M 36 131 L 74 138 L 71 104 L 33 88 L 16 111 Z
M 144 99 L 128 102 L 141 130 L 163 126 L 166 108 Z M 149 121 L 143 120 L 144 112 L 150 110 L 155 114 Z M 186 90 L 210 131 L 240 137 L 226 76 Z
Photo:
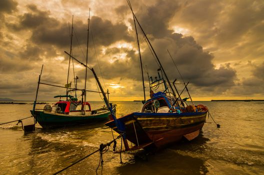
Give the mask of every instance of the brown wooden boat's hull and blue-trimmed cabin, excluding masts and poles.
M 116 118 L 118 127 L 114 119 L 105 124 L 118 133 L 124 133 L 125 150 L 161 148 L 179 141 L 182 137 L 191 140 L 198 136 L 205 122 L 207 107 L 199 104 L 194 106 L 193 111 L 186 111 L 184 107 L 181 107 L 181 111 L 171 110 L 170 99 L 164 93 L 158 92 L 157 96 L 145 102 L 141 112 Z M 155 107 L 156 101 L 162 106 Z M 149 105 L 152 105 L 153 111 L 148 110 Z M 133 143 L 132 147 L 128 146 L 127 140 Z

